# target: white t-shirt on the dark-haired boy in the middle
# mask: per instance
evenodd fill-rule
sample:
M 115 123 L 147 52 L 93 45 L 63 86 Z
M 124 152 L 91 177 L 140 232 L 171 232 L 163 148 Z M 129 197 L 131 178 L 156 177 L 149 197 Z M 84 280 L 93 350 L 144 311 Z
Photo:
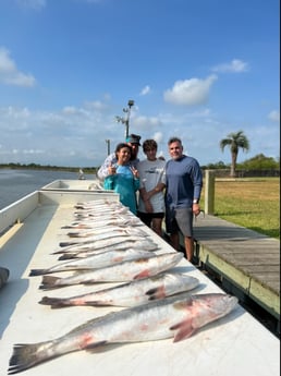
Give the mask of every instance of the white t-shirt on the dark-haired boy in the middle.
M 146 192 L 149 192 L 156 187 L 157 184 L 166 184 L 164 177 L 164 166 L 166 161 L 161 159 L 156 160 L 142 160 L 137 165 L 137 170 L 139 173 L 139 187 L 145 187 Z M 150 203 L 154 207 L 154 213 L 163 213 L 164 211 L 164 198 L 163 191 L 156 193 L 151 196 Z M 138 210 L 146 213 L 145 204 L 143 199 L 138 198 Z

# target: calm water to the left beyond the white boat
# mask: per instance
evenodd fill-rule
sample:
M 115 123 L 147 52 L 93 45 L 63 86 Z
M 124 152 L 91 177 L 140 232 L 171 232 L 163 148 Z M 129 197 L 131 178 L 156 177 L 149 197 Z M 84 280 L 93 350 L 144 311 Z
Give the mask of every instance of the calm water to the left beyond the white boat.
M 77 172 L 0 169 L 0 209 L 54 180 L 77 179 Z

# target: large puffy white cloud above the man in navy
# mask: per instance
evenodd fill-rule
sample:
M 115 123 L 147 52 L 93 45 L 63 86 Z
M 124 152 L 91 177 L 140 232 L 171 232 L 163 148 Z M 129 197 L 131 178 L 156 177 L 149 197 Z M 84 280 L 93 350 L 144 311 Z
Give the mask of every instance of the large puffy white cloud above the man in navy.
M 176 81 L 171 89 L 164 92 L 164 100 L 173 105 L 204 105 L 208 101 L 211 85 L 217 78 L 217 75 L 212 74 L 206 80 L 191 78 Z

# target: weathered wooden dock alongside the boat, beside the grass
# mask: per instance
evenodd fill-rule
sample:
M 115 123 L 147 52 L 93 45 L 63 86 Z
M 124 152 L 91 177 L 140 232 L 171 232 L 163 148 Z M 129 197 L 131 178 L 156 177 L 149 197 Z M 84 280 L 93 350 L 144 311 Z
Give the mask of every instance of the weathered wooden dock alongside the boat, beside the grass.
M 196 263 L 213 270 L 241 301 L 251 299 L 277 320 L 280 330 L 280 241 L 200 214 L 194 221 Z

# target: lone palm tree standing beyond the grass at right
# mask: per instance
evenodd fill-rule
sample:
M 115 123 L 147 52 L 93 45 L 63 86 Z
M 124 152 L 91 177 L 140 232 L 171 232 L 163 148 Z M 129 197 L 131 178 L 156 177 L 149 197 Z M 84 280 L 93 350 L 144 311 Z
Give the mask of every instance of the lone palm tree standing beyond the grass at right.
M 231 153 L 231 170 L 230 175 L 232 178 L 235 177 L 235 169 L 236 169 L 236 160 L 239 156 L 239 149 L 242 148 L 243 151 L 249 150 L 249 142 L 243 131 L 239 131 L 237 133 L 230 133 L 228 138 L 222 138 L 220 141 L 220 148 L 223 151 L 224 147 L 230 147 Z

